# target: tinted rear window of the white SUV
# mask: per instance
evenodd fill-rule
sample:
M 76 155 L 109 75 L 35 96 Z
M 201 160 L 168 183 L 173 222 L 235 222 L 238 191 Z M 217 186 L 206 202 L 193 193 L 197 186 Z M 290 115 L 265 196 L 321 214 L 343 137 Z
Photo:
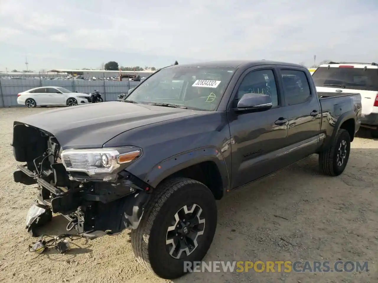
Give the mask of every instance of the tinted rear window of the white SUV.
M 312 77 L 315 86 L 378 91 L 378 69 L 319 67 Z

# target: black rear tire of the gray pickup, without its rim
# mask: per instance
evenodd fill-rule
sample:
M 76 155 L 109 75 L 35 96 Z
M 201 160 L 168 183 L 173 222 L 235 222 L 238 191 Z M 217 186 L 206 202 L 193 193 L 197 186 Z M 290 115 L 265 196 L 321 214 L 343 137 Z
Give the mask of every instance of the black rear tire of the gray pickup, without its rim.
M 346 141 L 347 153 L 344 159 L 344 162 L 341 166 L 337 164 L 337 152 L 341 142 Z M 319 153 L 319 168 L 322 173 L 329 176 L 338 176 L 344 172 L 345 167 L 347 166 L 350 153 L 350 135 L 347 130 L 339 129 L 336 133 L 335 138 L 332 141 L 332 145 Z

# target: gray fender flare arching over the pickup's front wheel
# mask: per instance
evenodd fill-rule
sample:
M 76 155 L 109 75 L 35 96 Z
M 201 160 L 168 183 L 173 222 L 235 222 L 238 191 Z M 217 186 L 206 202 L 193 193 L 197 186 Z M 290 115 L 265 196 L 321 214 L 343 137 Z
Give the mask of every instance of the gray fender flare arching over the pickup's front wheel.
M 166 158 L 151 168 L 144 181 L 156 188 L 166 177 L 204 161 L 213 161 L 217 165 L 225 192 L 229 188 L 229 172 L 222 152 L 214 146 L 192 149 Z

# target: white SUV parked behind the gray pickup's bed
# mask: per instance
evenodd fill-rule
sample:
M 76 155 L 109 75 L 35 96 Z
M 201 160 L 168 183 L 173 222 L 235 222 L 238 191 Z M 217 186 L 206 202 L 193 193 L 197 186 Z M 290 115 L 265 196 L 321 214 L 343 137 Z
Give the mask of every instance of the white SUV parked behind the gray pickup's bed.
M 361 94 L 361 126 L 378 138 L 378 64 L 335 63 L 320 65 L 312 75 L 318 92 Z

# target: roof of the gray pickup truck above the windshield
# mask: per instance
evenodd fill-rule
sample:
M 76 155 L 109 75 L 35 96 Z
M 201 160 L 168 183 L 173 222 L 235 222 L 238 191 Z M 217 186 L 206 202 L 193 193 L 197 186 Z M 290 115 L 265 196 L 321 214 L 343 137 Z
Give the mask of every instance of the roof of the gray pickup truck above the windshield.
M 261 66 L 261 65 L 285 65 L 285 66 L 293 66 L 293 67 L 302 67 L 299 64 L 293 63 L 286 63 L 286 62 L 279 62 L 279 61 L 269 61 L 269 60 L 224 60 L 224 61 L 208 61 L 208 62 L 199 62 L 199 63 L 191 63 L 191 64 L 178 64 L 172 65 L 167 68 L 184 68 L 184 67 L 231 67 L 237 68 L 241 65 L 244 66 Z

